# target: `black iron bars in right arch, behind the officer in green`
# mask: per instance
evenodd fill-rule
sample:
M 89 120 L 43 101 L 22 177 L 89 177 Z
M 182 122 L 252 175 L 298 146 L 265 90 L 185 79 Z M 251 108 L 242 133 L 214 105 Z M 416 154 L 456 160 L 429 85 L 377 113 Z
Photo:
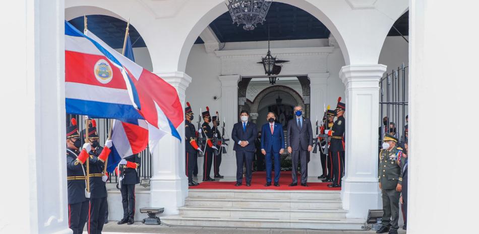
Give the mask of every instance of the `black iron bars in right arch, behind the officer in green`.
M 379 148 L 385 134 L 397 137 L 402 144 L 407 140 L 408 67 L 404 63 L 386 73 L 379 82 Z M 387 118 L 386 121 L 385 118 Z M 384 124 L 386 122 L 386 124 Z

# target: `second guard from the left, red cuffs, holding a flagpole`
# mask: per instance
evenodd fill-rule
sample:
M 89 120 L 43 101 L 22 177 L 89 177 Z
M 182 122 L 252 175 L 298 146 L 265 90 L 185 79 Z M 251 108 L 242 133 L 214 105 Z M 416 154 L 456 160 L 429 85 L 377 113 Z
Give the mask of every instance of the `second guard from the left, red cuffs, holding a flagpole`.
M 82 132 L 83 138 L 86 139 L 85 129 Z M 108 177 L 103 175 L 104 163 L 110 154 L 111 140 L 105 142 L 105 147 L 101 147 L 98 143 L 98 132 L 96 130 L 95 120 L 91 120 L 88 129 L 88 141 L 91 143 L 90 154 L 90 206 L 88 214 L 87 231 L 89 234 L 101 233 L 105 216 L 108 209 L 106 203 L 106 180 Z

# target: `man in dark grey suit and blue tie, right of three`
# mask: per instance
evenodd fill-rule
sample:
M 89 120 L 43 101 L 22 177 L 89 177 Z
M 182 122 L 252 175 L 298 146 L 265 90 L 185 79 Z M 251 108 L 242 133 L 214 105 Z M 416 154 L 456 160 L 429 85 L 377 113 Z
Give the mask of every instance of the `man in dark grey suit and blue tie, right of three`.
M 288 152 L 292 156 L 292 182 L 289 186 L 297 185 L 297 163 L 301 160 L 301 185 L 308 186 L 308 152 L 313 149 L 313 128 L 311 121 L 303 118 L 303 107 L 295 106 L 294 114 L 296 118 L 289 120 L 287 144 Z

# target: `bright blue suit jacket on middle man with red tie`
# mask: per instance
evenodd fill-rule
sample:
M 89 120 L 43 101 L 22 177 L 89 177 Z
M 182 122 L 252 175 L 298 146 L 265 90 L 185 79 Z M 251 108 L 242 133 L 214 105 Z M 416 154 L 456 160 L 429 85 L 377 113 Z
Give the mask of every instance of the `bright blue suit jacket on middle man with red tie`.
M 271 134 L 270 123 L 263 124 L 261 127 L 261 149 L 266 152 L 279 152 L 280 149 L 284 149 L 284 132 L 283 126 L 276 122 L 273 123 L 273 134 Z

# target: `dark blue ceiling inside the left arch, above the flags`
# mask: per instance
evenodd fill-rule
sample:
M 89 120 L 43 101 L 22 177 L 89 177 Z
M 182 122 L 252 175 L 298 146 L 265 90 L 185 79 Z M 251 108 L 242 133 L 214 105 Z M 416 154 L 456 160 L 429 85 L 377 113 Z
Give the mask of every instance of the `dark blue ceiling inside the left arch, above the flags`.
M 114 49 L 123 48 L 123 40 L 125 39 L 125 30 L 127 22 L 103 15 L 90 15 L 88 18 L 88 30 L 103 40 L 106 44 Z M 75 28 L 84 30 L 83 16 L 69 21 Z M 138 31 L 130 25 L 130 40 L 133 47 L 146 47 L 145 42 L 141 38 Z

